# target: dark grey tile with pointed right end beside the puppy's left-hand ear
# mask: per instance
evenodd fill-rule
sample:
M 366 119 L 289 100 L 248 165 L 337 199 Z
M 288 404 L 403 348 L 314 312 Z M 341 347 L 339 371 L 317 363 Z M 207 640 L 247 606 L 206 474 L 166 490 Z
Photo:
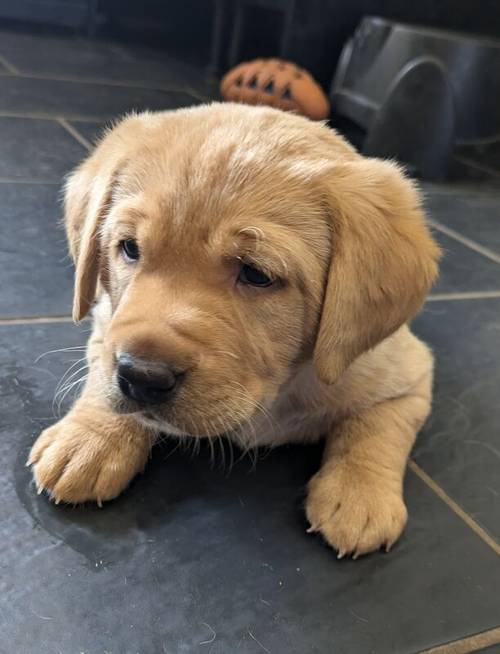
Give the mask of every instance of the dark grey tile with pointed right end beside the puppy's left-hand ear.
M 85 154 L 56 122 L 0 117 L 0 177 L 60 182 Z

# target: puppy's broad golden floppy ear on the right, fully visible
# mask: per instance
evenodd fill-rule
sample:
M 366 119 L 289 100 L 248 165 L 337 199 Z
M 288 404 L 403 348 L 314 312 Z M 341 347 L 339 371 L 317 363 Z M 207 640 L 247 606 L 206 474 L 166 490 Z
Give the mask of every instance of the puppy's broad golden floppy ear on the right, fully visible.
M 314 365 L 331 384 L 418 312 L 440 251 L 416 189 L 396 165 L 337 164 L 326 184 L 332 249 Z

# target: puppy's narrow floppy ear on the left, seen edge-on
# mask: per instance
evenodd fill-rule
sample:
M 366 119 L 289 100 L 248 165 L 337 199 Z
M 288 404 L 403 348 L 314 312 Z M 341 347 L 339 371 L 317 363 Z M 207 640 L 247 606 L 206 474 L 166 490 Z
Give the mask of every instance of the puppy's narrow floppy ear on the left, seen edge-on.
M 104 159 L 104 160 L 103 160 Z M 88 313 L 99 277 L 99 229 L 111 204 L 118 163 L 100 148 L 69 177 L 64 213 L 71 256 L 75 263 L 73 320 Z

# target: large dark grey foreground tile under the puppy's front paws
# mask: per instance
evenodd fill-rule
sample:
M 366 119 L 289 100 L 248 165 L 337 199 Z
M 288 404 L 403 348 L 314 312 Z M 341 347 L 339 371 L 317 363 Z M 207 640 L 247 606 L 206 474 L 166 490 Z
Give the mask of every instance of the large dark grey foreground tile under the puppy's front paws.
M 410 654 L 497 625 L 496 555 L 412 475 L 391 554 L 338 561 L 307 535 L 315 447 L 225 474 L 171 445 L 103 509 L 49 504 L 24 461 L 79 355 L 37 357 L 83 340 L 70 325 L 0 327 L 6 653 Z

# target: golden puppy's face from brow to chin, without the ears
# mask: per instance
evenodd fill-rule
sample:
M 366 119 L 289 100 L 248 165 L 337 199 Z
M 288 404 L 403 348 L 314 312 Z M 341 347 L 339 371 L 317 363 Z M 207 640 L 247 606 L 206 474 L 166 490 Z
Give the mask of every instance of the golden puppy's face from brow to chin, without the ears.
M 329 234 L 307 193 L 280 191 L 283 176 L 264 206 L 259 171 L 238 191 L 234 155 L 193 158 L 121 171 L 101 236 L 113 308 L 102 370 L 116 410 L 201 435 L 264 410 L 310 356 Z M 315 228 L 297 229 L 306 216 Z

